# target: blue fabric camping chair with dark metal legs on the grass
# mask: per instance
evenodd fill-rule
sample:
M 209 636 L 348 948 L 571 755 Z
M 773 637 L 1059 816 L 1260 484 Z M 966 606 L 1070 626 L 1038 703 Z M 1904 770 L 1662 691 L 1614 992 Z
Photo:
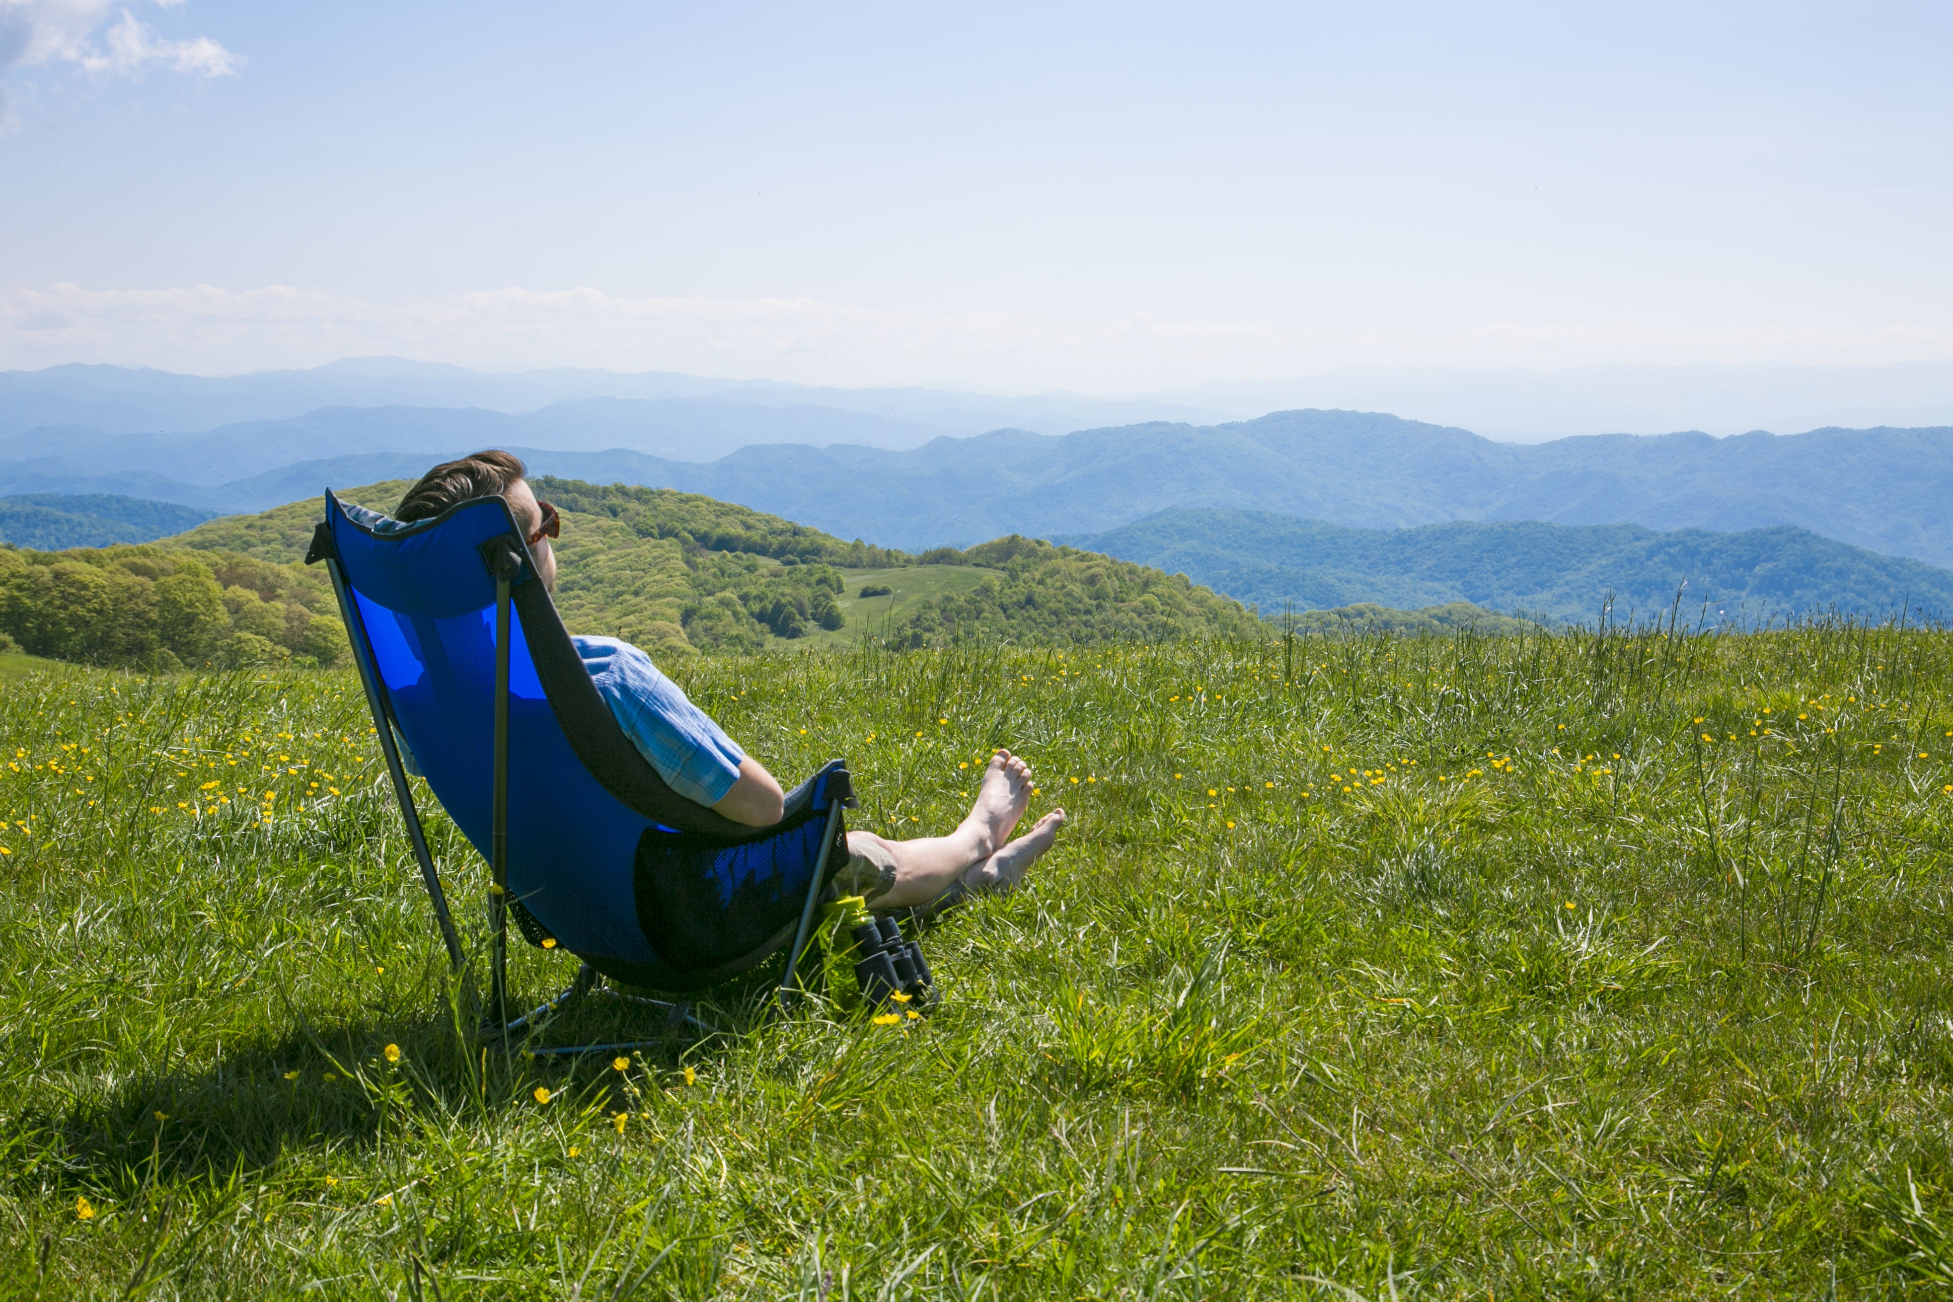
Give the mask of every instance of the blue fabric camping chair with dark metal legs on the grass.
M 855 798 L 844 761 L 795 787 L 771 828 L 730 822 L 674 793 L 598 695 L 502 498 L 402 523 L 328 490 L 305 560 L 324 560 L 332 576 L 457 970 L 461 939 L 396 736 L 488 861 L 494 1033 L 527 1035 L 602 976 L 687 994 L 791 941 L 785 997 L 814 902 L 848 861 L 842 810 Z M 516 1019 L 506 1007 L 510 910 L 531 943 L 582 958 L 566 992 Z M 660 1007 L 682 1015 L 682 1005 Z

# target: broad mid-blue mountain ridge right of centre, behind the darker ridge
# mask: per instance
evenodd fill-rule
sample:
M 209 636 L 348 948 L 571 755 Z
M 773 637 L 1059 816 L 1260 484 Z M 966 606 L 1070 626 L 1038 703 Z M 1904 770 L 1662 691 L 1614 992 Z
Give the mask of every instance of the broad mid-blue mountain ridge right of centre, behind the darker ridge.
M 885 547 L 1098 533 L 1174 508 L 1262 509 L 1351 527 L 1447 519 L 1740 531 L 1797 525 L 1953 564 L 1953 429 L 1820 429 L 1492 443 L 1361 412 L 1228 426 L 998 431 L 908 453 L 748 447 L 664 486 Z

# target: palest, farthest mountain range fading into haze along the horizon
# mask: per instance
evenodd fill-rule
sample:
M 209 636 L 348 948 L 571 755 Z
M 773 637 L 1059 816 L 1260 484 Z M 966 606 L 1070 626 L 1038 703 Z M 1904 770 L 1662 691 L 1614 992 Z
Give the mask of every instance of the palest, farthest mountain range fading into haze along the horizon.
M 0 371 L 0 433 L 41 426 L 82 426 L 107 433 L 195 433 L 217 426 L 307 416 L 328 406 L 482 408 L 519 416 L 586 398 L 689 400 L 736 408 L 814 406 L 879 416 L 945 435 L 990 429 L 1070 433 L 1146 420 L 1215 424 L 1277 410 L 1344 408 L 1396 412 L 1465 426 L 1492 439 L 1539 443 L 1582 433 L 1707 429 L 1726 435 L 1758 427 L 1943 426 L 1953 424 L 1953 363 L 1590 365 L 1562 371 L 1342 367 L 1289 381 L 1209 383 L 1133 400 L 1066 392 L 996 396 L 951 388 L 822 388 L 664 371 L 482 373 L 400 357 L 348 357 L 309 371 L 232 377 L 66 365 Z M 795 435 L 787 441 L 826 439 Z M 914 447 L 924 439 L 887 443 L 869 433 L 852 433 L 840 441 Z M 734 445 L 719 445 L 705 457 L 687 459 L 709 461 Z M 656 453 L 650 447 L 639 451 Z

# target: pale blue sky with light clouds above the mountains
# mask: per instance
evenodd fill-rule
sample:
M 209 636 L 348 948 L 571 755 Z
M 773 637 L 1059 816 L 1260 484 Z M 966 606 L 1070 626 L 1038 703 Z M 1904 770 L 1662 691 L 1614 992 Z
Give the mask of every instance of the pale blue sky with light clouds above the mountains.
M 1949 16 L 0 0 L 0 367 L 1949 361 Z

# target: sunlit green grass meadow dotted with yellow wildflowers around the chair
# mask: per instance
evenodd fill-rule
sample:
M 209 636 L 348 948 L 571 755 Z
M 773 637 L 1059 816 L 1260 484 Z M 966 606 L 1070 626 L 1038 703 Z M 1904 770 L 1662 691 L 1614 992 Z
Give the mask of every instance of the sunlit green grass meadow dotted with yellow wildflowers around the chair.
M 8 683 L 0 1294 L 1953 1284 L 1945 634 L 680 673 L 777 773 L 850 757 L 855 826 L 1031 757 L 1070 828 L 924 937 L 939 1011 L 484 1054 L 350 677 Z

